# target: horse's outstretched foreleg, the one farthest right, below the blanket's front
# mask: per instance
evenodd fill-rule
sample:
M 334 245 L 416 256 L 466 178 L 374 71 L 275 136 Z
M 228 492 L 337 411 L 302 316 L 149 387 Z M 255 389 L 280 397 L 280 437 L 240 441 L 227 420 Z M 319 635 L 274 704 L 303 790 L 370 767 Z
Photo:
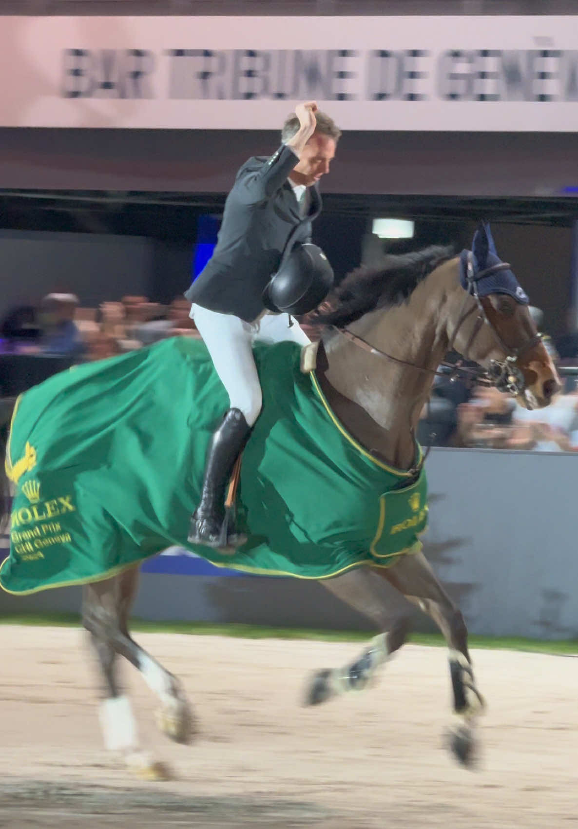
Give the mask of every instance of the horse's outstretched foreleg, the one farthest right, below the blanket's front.
M 423 553 L 406 555 L 389 570 L 376 572 L 428 613 L 444 634 L 449 648 L 454 714 L 459 717 L 459 725 L 450 731 L 450 744 L 459 761 L 470 764 L 474 759 L 474 725 L 485 702 L 474 681 L 464 616 L 441 586 Z

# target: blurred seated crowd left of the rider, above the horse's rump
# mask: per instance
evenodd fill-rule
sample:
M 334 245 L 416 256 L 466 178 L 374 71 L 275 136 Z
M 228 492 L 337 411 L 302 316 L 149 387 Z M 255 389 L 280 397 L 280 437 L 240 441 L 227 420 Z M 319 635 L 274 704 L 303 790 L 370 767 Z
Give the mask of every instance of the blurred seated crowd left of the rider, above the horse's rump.
M 147 297 L 82 308 L 74 293 L 49 293 L 37 308 L 14 308 L 2 321 L 2 351 L 100 360 L 164 337 L 197 337 L 190 303 L 179 297 L 168 306 Z

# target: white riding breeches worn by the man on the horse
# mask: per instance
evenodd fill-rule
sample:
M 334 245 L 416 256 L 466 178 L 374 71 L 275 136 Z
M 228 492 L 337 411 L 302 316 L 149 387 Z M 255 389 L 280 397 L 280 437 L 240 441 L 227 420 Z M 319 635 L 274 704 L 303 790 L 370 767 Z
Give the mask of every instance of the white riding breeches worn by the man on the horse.
M 262 405 L 253 343 L 289 340 L 306 346 L 310 342 L 307 334 L 295 320 L 289 327 L 286 313 L 265 314 L 256 322 L 244 322 L 231 314 L 192 305 L 190 317 L 195 321 L 216 373 L 226 388 L 231 409 L 242 411 L 247 424 L 252 426 L 259 417 Z

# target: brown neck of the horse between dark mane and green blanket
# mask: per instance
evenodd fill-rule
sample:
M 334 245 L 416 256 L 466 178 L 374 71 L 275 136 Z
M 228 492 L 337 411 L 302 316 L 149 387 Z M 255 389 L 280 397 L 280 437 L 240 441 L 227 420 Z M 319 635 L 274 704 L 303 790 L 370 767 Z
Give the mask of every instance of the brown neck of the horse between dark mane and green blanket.
M 449 286 L 456 265 L 435 269 L 407 303 L 376 310 L 348 330 L 401 361 L 365 351 L 339 334 L 324 338 L 324 390 L 345 428 L 377 456 L 400 469 L 415 462 L 415 431 L 434 371 L 448 347 Z M 419 371 L 420 366 L 430 371 Z

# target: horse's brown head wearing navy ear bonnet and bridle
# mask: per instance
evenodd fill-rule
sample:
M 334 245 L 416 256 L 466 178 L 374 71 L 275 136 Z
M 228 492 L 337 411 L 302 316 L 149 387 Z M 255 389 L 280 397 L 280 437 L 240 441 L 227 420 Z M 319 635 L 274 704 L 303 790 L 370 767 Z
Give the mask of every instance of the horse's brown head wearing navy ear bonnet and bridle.
M 560 378 L 529 312 L 527 294 L 499 258 L 487 223 L 479 225 L 459 266 L 462 290 L 450 347 L 483 366 L 498 389 L 525 408 L 548 405 L 561 389 Z

